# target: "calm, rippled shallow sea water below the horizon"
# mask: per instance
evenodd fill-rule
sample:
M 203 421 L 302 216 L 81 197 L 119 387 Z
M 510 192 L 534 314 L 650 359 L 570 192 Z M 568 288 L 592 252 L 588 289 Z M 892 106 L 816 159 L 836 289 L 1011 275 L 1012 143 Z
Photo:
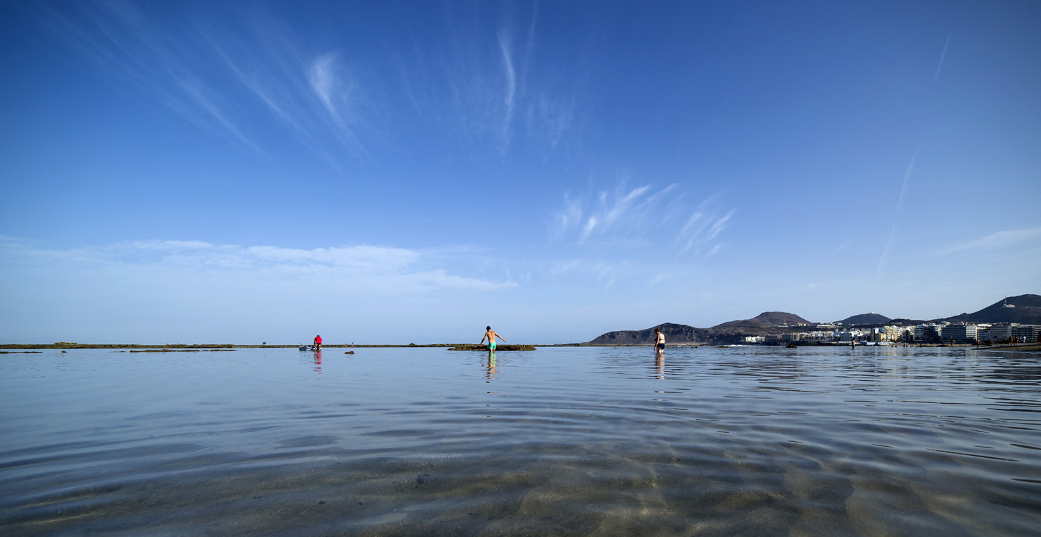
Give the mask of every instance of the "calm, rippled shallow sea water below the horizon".
M 1037 535 L 1041 355 L 0 355 L 2 535 Z

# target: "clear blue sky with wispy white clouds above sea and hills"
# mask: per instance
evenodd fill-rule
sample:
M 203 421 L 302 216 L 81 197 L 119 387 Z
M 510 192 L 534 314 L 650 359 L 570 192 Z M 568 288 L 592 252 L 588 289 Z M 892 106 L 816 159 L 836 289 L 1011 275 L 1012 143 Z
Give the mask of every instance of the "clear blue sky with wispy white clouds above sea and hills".
M 4 2 L 0 341 L 1041 292 L 1037 2 Z

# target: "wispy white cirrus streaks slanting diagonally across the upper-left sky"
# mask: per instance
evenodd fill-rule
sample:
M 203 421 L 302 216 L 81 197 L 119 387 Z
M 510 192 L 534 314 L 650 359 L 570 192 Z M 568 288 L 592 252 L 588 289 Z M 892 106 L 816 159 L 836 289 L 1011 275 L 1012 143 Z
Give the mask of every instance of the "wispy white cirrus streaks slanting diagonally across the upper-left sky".
M 327 160 L 336 147 L 361 149 L 358 78 L 335 50 L 303 45 L 258 9 L 233 22 L 205 11 L 168 24 L 132 2 L 42 3 L 42 19 L 99 65 L 205 130 L 250 151 L 270 136 L 257 111 L 287 127 Z M 310 49 L 310 50 L 308 50 Z

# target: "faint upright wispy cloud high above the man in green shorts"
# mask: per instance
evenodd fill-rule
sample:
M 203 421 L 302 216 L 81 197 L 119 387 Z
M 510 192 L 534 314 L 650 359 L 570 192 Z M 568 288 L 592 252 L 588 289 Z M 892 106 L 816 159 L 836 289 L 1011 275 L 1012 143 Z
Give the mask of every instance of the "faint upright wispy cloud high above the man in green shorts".
M 451 5 L 447 39 L 434 47 L 416 43 L 414 54 L 399 61 L 403 93 L 416 120 L 504 155 L 518 137 L 547 153 L 577 144 L 576 118 L 582 116 L 576 110 L 587 95 L 575 87 L 581 70 L 548 72 L 574 55 L 566 49 L 554 51 L 552 61 L 539 61 L 538 4 L 530 19 L 505 16 L 492 32 L 482 12 Z

